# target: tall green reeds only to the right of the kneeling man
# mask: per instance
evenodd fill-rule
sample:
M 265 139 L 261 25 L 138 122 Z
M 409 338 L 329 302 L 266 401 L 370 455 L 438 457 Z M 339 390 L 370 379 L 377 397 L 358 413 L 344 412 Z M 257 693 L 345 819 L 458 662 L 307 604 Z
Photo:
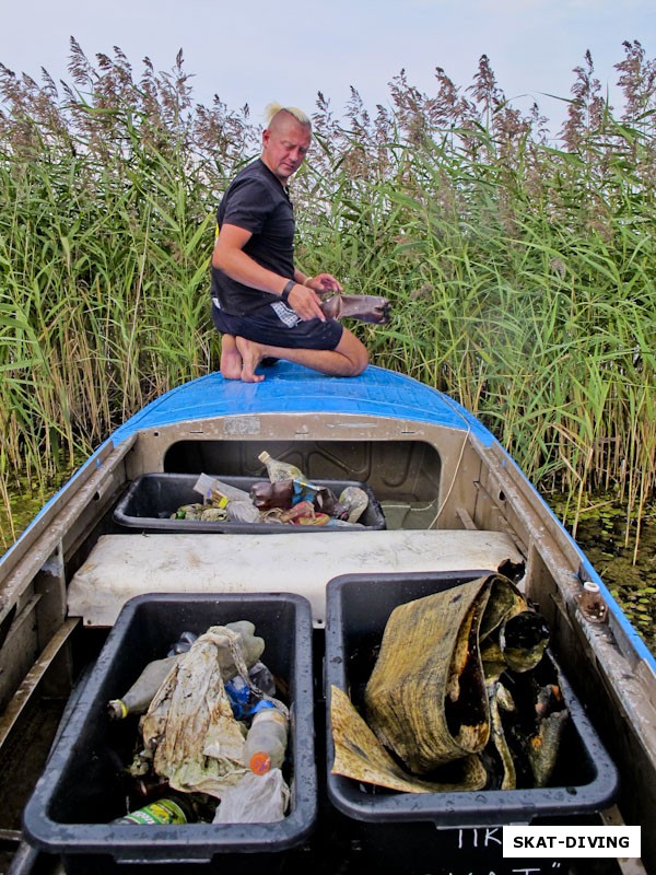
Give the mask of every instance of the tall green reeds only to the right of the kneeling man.
M 581 94 L 591 100 L 590 89 Z M 427 136 L 427 104 L 414 98 L 419 141 L 383 174 L 361 163 L 365 195 L 353 203 L 351 186 L 349 222 L 333 228 L 337 271 L 361 257 L 363 230 L 380 232 L 377 291 L 396 316 L 391 329 L 368 332 L 376 360 L 458 397 L 543 489 L 570 495 L 575 518 L 605 488 L 640 513 L 655 474 L 645 114 L 639 129 L 607 108 L 583 113 L 566 129 L 576 144 L 557 149 L 501 100 L 488 127 Z M 406 119 L 406 141 L 418 128 Z M 333 130 L 340 137 L 336 156 L 352 148 Z M 332 171 L 341 191 L 335 159 Z

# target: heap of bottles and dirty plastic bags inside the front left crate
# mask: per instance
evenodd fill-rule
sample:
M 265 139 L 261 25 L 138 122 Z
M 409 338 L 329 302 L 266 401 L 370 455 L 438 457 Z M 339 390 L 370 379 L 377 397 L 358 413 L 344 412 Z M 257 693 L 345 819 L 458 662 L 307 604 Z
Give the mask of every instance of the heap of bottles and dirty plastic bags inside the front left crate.
M 113 822 L 283 819 L 289 709 L 263 650 L 248 620 L 183 632 L 108 702 L 110 720 L 140 715 L 136 754 L 121 775 L 128 813 Z

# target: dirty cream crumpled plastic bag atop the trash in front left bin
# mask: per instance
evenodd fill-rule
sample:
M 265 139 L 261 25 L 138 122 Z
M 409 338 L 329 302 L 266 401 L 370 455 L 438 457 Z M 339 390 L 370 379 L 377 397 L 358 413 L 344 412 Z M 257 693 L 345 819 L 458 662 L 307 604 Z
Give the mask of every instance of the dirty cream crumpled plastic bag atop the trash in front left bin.
M 246 773 L 244 731 L 233 715 L 222 677 L 232 662 L 251 684 L 242 645 L 243 637 L 233 629 L 208 629 L 180 655 L 141 719 L 145 751 L 154 751 L 153 771 L 175 790 L 221 797 Z M 286 712 L 281 702 L 272 701 Z

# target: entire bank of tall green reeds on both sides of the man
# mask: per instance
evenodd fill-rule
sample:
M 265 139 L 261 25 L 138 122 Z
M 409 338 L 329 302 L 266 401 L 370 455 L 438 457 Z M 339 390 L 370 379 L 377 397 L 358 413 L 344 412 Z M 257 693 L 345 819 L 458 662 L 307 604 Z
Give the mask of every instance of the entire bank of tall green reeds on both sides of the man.
M 618 63 L 621 118 L 591 58 L 561 141 L 520 114 L 483 56 L 464 92 L 401 72 L 371 115 L 318 95 L 293 180 L 297 256 L 389 296 L 359 325 L 379 364 L 478 413 L 542 489 L 614 489 L 640 512 L 655 472 L 655 66 Z M 257 154 L 249 109 L 194 105 L 171 73 L 73 40 L 60 96 L 0 67 L 0 493 L 48 479 L 162 392 L 215 366 L 214 210 Z

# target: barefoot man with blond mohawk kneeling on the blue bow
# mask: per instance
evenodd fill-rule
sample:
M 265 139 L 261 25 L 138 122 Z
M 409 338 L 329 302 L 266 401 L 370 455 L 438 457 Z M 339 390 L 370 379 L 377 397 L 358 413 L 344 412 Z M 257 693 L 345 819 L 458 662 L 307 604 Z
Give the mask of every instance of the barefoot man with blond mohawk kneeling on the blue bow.
M 341 292 L 330 273 L 307 277 L 294 266 L 294 212 L 288 182 L 305 160 L 309 118 L 271 104 L 262 152 L 233 179 L 216 211 L 212 255 L 212 318 L 222 334 L 221 373 L 258 383 L 266 358 L 304 364 L 331 376 L 358 376 L 363 343 L 326 318 L 317 292 Z

